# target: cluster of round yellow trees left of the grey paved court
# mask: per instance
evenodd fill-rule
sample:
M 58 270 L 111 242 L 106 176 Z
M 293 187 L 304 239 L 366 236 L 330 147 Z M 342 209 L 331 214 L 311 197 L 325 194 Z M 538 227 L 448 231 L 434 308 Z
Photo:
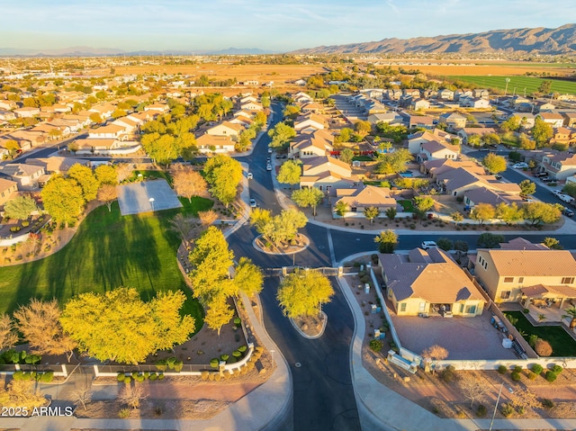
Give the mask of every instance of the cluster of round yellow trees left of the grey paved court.
M 52 220 L 67 227 L 76 222 L 85 203 L 96 199 L 99 193 L 103 202 L 116 199 L 115 184 L 118 184 L 118 175 L 113 166 L 101 165 L 93 171 L 91 167 L 76 164 L 68 169 L 66 176 L 50 178 L 40 195 L 44 210 Z M 99 192 L 101 188 L 105 192 Z

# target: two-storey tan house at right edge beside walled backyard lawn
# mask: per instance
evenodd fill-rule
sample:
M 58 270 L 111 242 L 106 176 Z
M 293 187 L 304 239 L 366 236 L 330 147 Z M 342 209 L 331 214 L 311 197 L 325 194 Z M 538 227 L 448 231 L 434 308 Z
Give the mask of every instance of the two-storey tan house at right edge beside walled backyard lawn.
M 576 261 L 567 250 L 534 247 L 523 238 L 479 248 L 474 275 L 495 302 L 563 302 L 576 298 Z

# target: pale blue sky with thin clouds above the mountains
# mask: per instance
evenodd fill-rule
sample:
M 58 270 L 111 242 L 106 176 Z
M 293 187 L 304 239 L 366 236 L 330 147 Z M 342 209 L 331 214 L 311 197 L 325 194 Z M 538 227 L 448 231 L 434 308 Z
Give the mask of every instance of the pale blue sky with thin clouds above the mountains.
M 1 6 L 0 48 L 260 48 L 576 22 L 574 0 L 24 0 Z

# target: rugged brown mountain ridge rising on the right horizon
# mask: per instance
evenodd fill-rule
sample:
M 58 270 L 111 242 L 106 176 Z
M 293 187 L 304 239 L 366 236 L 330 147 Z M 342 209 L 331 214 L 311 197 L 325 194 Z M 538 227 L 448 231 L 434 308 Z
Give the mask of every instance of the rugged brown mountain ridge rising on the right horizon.
M 566 24 L 557 29 L 538 27 L 536 29 L 450 34 L 429 38 L 392 38 L 376 42 L 298 49 L 292 54 L 394 54 L 402 52 L 575 54 L 576 24 Z

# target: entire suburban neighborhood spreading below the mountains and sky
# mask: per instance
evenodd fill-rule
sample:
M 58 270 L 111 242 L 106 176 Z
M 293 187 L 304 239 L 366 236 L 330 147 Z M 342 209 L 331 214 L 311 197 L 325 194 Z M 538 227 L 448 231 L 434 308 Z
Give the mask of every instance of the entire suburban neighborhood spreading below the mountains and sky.
M 366 52 L 0 56 L 1 428 L 576 428 L 572 60 Z

